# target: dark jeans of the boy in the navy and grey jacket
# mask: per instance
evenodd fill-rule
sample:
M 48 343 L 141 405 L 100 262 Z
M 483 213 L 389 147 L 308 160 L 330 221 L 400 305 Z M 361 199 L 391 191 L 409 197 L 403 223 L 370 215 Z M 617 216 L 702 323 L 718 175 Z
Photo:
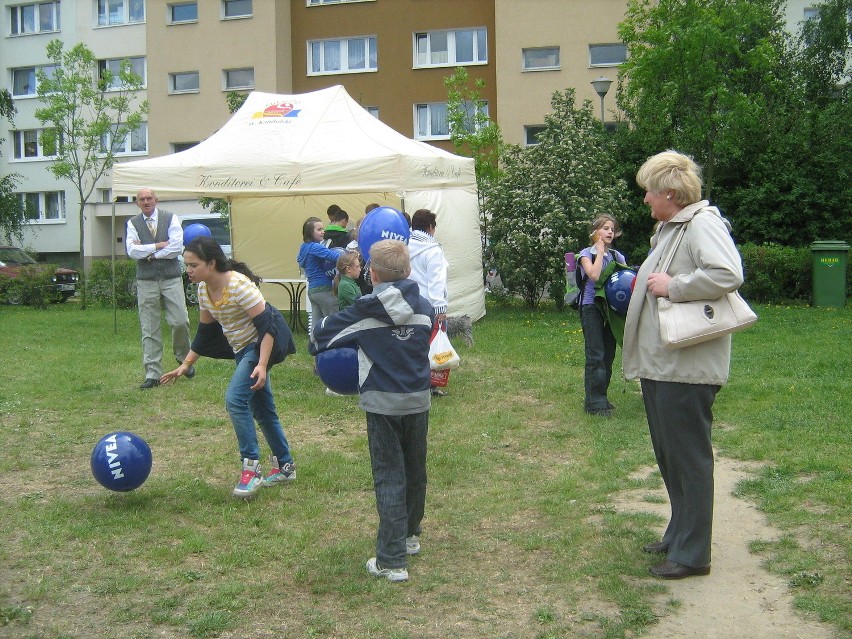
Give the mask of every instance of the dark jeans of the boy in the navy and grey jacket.
M 376 490 L 382 568 L 405 568 L 405 538 L 420 534 L 426 507 L 426 435 L 429 411 L 412 415 L 367 413 L 367 441 Z

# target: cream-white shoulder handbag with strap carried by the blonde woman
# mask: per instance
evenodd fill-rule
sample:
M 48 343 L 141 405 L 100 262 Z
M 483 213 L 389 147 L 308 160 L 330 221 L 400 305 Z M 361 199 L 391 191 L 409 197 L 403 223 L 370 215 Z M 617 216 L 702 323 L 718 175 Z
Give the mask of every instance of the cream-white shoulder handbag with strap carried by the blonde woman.
M 668 271 L 686 224 L 681 226 L 661 272 Z M 757 322 L 757 315 L 738 291 L 732 291 L 716 300 L 672 302 L 667 297 L 657 298 L 660 320 L 660 339 L 667 350 L 683 348 L 718 339 L 723 335 L 744 330 Z

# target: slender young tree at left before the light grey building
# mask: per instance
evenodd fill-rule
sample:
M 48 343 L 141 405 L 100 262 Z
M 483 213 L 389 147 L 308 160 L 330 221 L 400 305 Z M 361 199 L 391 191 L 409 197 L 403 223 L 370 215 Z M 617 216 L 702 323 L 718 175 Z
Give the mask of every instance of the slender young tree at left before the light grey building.
M 142 78 L 124 60 L 113 75 L 98 69 L 98 60 L 84 44 L 68 51 L 52 40 L 47 55 L 56 65 L 52 75 L 38 73 L 38 98 L 43 105 L 36 117 L 48 125 L 45 146 L 56 149 L 50 171 L 69 180 L 80 200 L 80 263 L 84 264 L 85 206 L 97 185 L 115 164 L 118 141 L 136 132 L 148 112 L 147 101 L 136 94 Z

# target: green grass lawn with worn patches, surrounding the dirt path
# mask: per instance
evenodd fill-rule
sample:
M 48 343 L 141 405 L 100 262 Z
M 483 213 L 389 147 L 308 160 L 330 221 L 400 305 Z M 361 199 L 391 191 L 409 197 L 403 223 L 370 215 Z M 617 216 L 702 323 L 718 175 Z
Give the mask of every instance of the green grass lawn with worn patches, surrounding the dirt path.
M 803 615 L 847 636 L 852 308 L 756 310 L 734 338 L 714 441 L 763 464 L 738 494 L 784 534 L 752 551 L 789 577 Z M 659 482 L 631 479 L 654 463 L 638 387 L 613 382 L 612 419 L 583 413 L 576 314 L 489 306 L 475 345 L 457 344 L 406 584 L 364 569 L 376 529 L 364 415 L 325 396 L 304 334 L 272 371 L 298 479 L 242 501 L 223 406 L 232 363 L 202 360 L 195 379 L 141 392 L 133 311 L 114 331 L 111 309 L 4 306 L 0 327 L 2 637 L 634 637 L 667 604 L 640 551 L 662 522 L 612 507 Z M 114 430 L 153 451 L 136 491 L 91 475 Z

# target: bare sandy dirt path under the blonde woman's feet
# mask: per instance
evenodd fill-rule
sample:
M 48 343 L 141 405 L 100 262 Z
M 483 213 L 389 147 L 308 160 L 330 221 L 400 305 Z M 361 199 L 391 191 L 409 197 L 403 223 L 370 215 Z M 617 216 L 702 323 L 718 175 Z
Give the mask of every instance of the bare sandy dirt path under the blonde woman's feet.
M 647 476 L 656 469 L 645 469 Z M 646 639 L 831 639 L 833 628 L 806 620 L 793 610 L 786 581 L 761 568 L 760 557 L 748 550 L 757 539 L 774 540 L 769 527 L 750 503 L 733 496 L 737 482 L 749 477 L 742 462 L 716 457 L 716 500 L 713 516 L 713 570 L 707 577 L 669 581 L 667 599 L 680 602 L 675 612 L 648 629 Z M 644 501 L 647 490 L 623 493 L 616 508 L 653 512 L 668 520 L 668 501 Z M 659 496 L 665 497 L 660 489 Z M 662 527 L 660 529 L 662 535 Z M 662 606 L 661 606 L 662 608 Z

